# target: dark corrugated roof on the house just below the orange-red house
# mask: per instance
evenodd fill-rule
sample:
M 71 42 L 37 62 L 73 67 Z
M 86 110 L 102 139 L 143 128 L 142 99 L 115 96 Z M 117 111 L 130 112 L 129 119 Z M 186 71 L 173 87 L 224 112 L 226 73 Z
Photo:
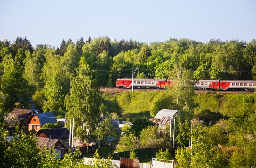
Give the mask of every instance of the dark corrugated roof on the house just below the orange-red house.
M 50 128 L 50 129 L 40 129 L 37 131 L 37 135 L 43 132 L 47 138 L 52 136 L 53 139 L 68 139 L 69 138 L 69 130 L 67 128 Z

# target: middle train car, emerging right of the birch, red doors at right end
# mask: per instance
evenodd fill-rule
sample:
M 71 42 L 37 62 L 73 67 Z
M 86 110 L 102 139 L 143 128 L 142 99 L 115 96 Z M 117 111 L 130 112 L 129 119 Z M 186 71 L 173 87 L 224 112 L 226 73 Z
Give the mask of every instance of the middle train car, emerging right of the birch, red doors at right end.
M 217 90 L 220 89 L 220 80 L 198 80 L 194 86 L 195 89 Z

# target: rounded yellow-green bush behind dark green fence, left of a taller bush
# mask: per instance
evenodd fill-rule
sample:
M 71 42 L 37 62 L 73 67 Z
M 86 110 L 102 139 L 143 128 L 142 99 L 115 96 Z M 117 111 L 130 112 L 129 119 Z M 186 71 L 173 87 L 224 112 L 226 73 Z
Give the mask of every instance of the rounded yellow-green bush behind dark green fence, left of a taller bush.
M 139 148 L 140 140 L 134 134 L 125 134 L 124 136 L 121 136 L 117 145 L 117 150 L 120 152 Z

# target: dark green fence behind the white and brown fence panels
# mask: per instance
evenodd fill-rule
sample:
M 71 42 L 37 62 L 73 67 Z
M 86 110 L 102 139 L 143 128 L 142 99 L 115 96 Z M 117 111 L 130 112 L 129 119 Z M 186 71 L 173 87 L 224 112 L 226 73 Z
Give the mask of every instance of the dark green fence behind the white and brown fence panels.
M 141 158 L 152 158 L 155 157 L 156 152 L 158 152 L 159 149 L 154 148 L 142 148 L 142 149 L 135 149 L 134 152 L 137 153 L 137 157 L 139 159 Z M 101 153 L 100 156 L 103 158 L 108 158 L 108 156 L 112 156 L 113 160 L 120 160 L 121 157 L 130 158 L 130 151 L 124 151 L 124 152 L 116 152 L 116 153 Z M 93 157 L 93 154 L 86 154 L 83 155 L 83 157 Z

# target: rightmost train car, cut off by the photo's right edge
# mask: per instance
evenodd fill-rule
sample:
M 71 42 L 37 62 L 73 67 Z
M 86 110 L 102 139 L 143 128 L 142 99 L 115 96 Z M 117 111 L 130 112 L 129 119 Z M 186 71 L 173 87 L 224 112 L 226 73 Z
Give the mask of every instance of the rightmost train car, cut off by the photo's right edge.
M 220 80 L 222 90 L 249 90 L 256 88 L 256 80 Z

